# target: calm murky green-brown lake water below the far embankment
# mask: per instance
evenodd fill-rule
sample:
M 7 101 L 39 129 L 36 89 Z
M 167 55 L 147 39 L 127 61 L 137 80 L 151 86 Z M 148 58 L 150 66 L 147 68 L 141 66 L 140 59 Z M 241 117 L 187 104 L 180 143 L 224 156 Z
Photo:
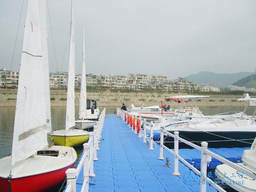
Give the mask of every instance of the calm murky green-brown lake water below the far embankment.
M 119 106 L 120 107 L 120 106 Z M 102 110 L 104 107 L 100 107 Z M 243 111 L 244 107 L 200 107 L 204 115 L 214 115 L 228 111 Z M 255 107 L 249 107 L 246 114 L 252 115 Z M 76 120 L 78 119 L 79 107 L 76 107 Z M 106 113 L 114 113 L 116 107 L 106 107 Z M 7 156 L 12 151 L 12 137 L 14 126 L 14 107 L 0 108 L 0 158 Z M 65 129 L 66 108 L 52 107 L 51 121 L 52 130 Z

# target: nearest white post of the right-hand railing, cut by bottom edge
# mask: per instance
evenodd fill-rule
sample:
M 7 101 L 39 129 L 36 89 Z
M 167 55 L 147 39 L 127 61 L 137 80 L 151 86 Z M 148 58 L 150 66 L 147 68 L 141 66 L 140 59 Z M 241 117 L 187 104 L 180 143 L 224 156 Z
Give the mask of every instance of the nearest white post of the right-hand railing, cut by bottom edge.
M 200 192 L 206 192 L 206 181 L 205 177 L 207 176 L 207 154 L 205 150 L 208 149 L 208 143 L 202 142 L 201 143 L 202 151 L 201 151 L 201 185 L 200 185 Z

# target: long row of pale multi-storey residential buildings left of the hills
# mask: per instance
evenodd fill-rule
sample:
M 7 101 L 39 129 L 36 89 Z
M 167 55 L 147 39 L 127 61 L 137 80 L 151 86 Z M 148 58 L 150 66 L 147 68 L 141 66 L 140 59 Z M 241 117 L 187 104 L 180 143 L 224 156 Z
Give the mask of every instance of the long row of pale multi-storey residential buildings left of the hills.
M 5 68 L 0 70 L 0 86 L 3 89 L 17 89 L 19 71 L 9 71 Z M 75 76 L 75 86 L 79 87 L 81 84 L 81 76 L 79 73 Z M 86 74 L 88 86 L 99 86 L 104 89 L 163 89 L 168 91 L 220 91 L 218 88 L 212 87 L 208 84 L 197 85 L 185 78 L 178 77 L 171 79 L 167 76 L 161 75 L 147 75 L 139 73 L 129 73 L 127 76 L 118 74 L 103 75 L 102 73 Z M 68 85 L 68 72 L 56 71 L 49 73 L 50 88 L 62 88 Z

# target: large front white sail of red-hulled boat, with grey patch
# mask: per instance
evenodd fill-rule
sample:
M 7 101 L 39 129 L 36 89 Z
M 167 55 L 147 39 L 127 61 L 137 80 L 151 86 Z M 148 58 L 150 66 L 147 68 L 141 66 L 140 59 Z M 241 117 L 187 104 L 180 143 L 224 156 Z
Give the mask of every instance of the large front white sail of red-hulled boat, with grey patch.
M 38 1 L 28 0 L 14 121 L 12 165 L 47 146 Z

